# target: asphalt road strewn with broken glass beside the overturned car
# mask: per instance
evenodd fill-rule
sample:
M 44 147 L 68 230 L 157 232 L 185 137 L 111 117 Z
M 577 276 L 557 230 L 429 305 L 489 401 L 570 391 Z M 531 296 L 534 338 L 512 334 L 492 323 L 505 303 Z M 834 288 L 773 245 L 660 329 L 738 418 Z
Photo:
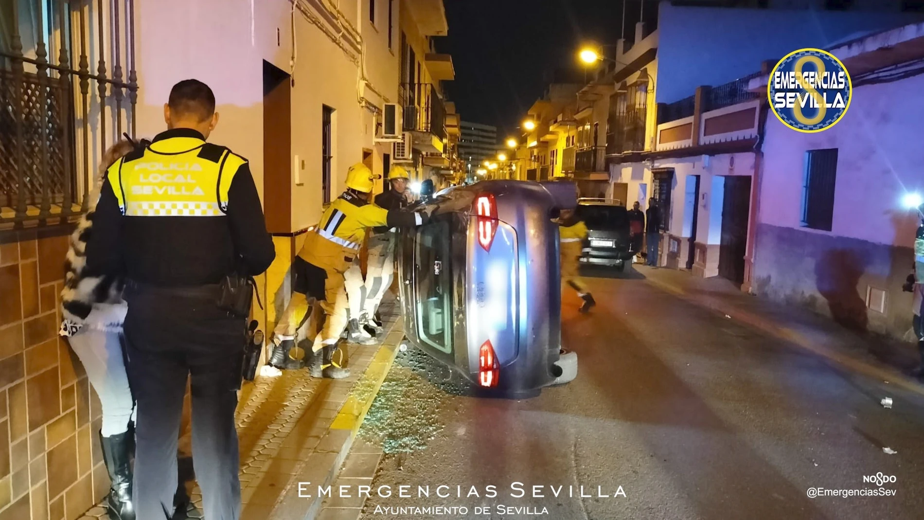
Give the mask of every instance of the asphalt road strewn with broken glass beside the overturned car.
M 373 491 L 363 518 L 924 517 L 920 395 L 838 369 L 641 275 L 589 281 L 598 301 L 590 315 L 565 296 L 577 380 L 539 397 L 468 397 L 429 358 L 399 358 L 360 432 L 383 441 L 373 490 L 389 486 L 393 496 Z M 864 482 L 877 474 L 894 482 Z M 523 498 L 511 496 L 517 482 Z M 398 496 L 401 485 L 411 498 Z M 429 498 L 418 498 L 419 486 Z M 532 486 L 543 496 L 531 498 Z M 809 488 L 894 496 L 809 498 Z M 383 509 L 402 506 L 468 514 Z

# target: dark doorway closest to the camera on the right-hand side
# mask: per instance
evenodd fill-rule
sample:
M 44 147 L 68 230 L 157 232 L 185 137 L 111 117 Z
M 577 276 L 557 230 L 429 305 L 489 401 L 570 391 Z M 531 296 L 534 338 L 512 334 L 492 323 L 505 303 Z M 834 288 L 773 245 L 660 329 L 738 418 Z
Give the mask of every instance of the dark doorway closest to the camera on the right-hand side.
M 749 176 L 729 175 L 725 177 L 719 276 L 738 285 L 745 281 L 750 187 L 751 178 Z

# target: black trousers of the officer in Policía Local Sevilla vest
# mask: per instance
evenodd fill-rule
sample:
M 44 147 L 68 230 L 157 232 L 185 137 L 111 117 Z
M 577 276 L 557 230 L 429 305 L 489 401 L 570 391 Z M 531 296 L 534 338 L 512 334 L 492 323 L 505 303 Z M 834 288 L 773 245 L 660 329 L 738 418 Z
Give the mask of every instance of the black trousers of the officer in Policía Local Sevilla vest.
M 243 333 L 243 322 L 225 319 L 211 301 L 164 301 L 149 295 L 128 299 L 128 377 L 138 406 L 133 488 L 138 520 L 166 520 L 173 513 L 187 377 L 202 513 L 209 520 L 238 519 L 234 412 Z

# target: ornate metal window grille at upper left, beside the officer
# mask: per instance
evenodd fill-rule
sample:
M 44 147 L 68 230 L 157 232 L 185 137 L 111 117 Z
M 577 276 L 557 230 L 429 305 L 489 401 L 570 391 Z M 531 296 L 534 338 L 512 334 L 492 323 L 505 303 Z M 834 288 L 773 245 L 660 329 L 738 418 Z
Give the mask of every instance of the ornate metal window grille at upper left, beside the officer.
M 87 210 L 96 162 L 122 132 L 134 135 L 138 100 L 134 34 L 124 30 L 134 27 L 133 0 L 50 2 L 34 19 L 19 5 L 0 27 L 9 43 L 0 44 L 0 224 L 17 227 Z M 24 42 L 20 27 L 35 40 Z M 92 69 L 88 54 L 98 56 Z

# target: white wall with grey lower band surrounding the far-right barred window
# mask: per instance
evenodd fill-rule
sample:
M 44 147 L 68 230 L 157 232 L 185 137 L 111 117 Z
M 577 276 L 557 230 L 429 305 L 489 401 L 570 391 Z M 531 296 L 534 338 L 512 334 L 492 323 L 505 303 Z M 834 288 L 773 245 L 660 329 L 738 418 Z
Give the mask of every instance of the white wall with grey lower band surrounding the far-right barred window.
M 831 315 L 859 330 L 905 337 L 918 217 L 901 207 L 924 190 L 924 76 L 857 87 L 844 118 L 815 134 L 770 117 L 761 168 L 754 280 L 759 294 Z M 832 231 L 801 225 L 806 151 L 838 149 Z M 884 292 L 884 308 L 870 294 Z M 880 298 L 874 298 L 876 300 Z

